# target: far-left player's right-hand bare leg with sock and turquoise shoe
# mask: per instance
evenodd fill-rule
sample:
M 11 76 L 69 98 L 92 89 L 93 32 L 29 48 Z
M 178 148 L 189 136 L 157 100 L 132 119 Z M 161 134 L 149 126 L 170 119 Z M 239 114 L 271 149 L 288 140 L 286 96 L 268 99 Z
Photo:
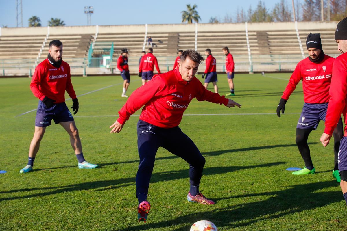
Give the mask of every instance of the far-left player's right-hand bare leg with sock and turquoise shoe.
M 76 157 L 78 159 L 78 168 L 96 168 L 98 165 L 93 165 L 85 161 L 82 152 L 82 143 L 79 139 L 78 129 L 76 127 L 75 121 L 61 122 L 60 125 L 65 128 L 70 136 L 70 143 L 75 151 Z

